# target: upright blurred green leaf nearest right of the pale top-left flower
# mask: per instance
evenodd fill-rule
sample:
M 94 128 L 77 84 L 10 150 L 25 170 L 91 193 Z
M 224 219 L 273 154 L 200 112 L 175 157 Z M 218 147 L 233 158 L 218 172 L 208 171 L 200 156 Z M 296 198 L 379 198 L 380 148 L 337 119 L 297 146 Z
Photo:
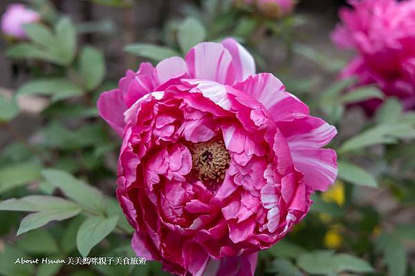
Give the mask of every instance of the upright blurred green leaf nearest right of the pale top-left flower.
M 55 32 L 60 57 L 63 58 L 65 65 L 69 65 L 72 63 L 76 52 L 75 26 L 70 19 L 64 17 L 57 22 Z

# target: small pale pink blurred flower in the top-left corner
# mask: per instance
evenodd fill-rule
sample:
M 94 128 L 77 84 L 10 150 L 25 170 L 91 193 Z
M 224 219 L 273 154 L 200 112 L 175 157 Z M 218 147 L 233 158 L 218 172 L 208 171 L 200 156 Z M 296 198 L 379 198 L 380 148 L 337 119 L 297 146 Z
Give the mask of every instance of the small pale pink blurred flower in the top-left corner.
M 1 31 L 10 37 L 26 39 L 23 26 L 40 21 L 40 15 L 23 4 L 11 4 L 1 18 Z

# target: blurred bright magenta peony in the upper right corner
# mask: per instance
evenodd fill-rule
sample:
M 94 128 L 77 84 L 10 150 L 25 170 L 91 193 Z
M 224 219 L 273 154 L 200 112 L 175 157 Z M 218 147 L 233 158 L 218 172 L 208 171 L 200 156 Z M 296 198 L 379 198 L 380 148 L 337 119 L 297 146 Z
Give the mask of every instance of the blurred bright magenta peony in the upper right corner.
M 340 48 L 355 49 L 356 57 L 342 77 L 358 77 L 359 84 L 376 83 L 387 97 L 415 108 L 415 1 L 349 0 L 353 9 L 340 9 L 331 39 Z M 364 104 L 373 113 L 382 101 Z

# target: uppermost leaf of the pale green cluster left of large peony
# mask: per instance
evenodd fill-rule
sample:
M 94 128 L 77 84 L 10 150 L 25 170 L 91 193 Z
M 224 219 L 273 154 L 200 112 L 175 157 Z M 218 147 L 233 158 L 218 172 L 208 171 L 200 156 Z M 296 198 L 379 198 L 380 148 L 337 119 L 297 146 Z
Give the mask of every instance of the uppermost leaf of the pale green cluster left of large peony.
M 96 213 L 105 212 L 104 197 L 97 188 L 63 170 L 46 169 L 42 170 L 42 174 L 50 184 L 61 189 L 67 197 L 80 206 Z

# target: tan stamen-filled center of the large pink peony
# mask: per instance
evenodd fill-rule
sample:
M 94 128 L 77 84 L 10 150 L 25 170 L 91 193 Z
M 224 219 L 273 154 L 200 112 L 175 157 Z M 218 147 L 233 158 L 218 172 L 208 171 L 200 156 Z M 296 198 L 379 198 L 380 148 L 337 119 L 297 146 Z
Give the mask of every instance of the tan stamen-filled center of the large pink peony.
M 225 178 L 230 155 L 223 141 L 210 140 L 192 144 L 192 165 L 197 177 L 203 182 L 216 184 Z

